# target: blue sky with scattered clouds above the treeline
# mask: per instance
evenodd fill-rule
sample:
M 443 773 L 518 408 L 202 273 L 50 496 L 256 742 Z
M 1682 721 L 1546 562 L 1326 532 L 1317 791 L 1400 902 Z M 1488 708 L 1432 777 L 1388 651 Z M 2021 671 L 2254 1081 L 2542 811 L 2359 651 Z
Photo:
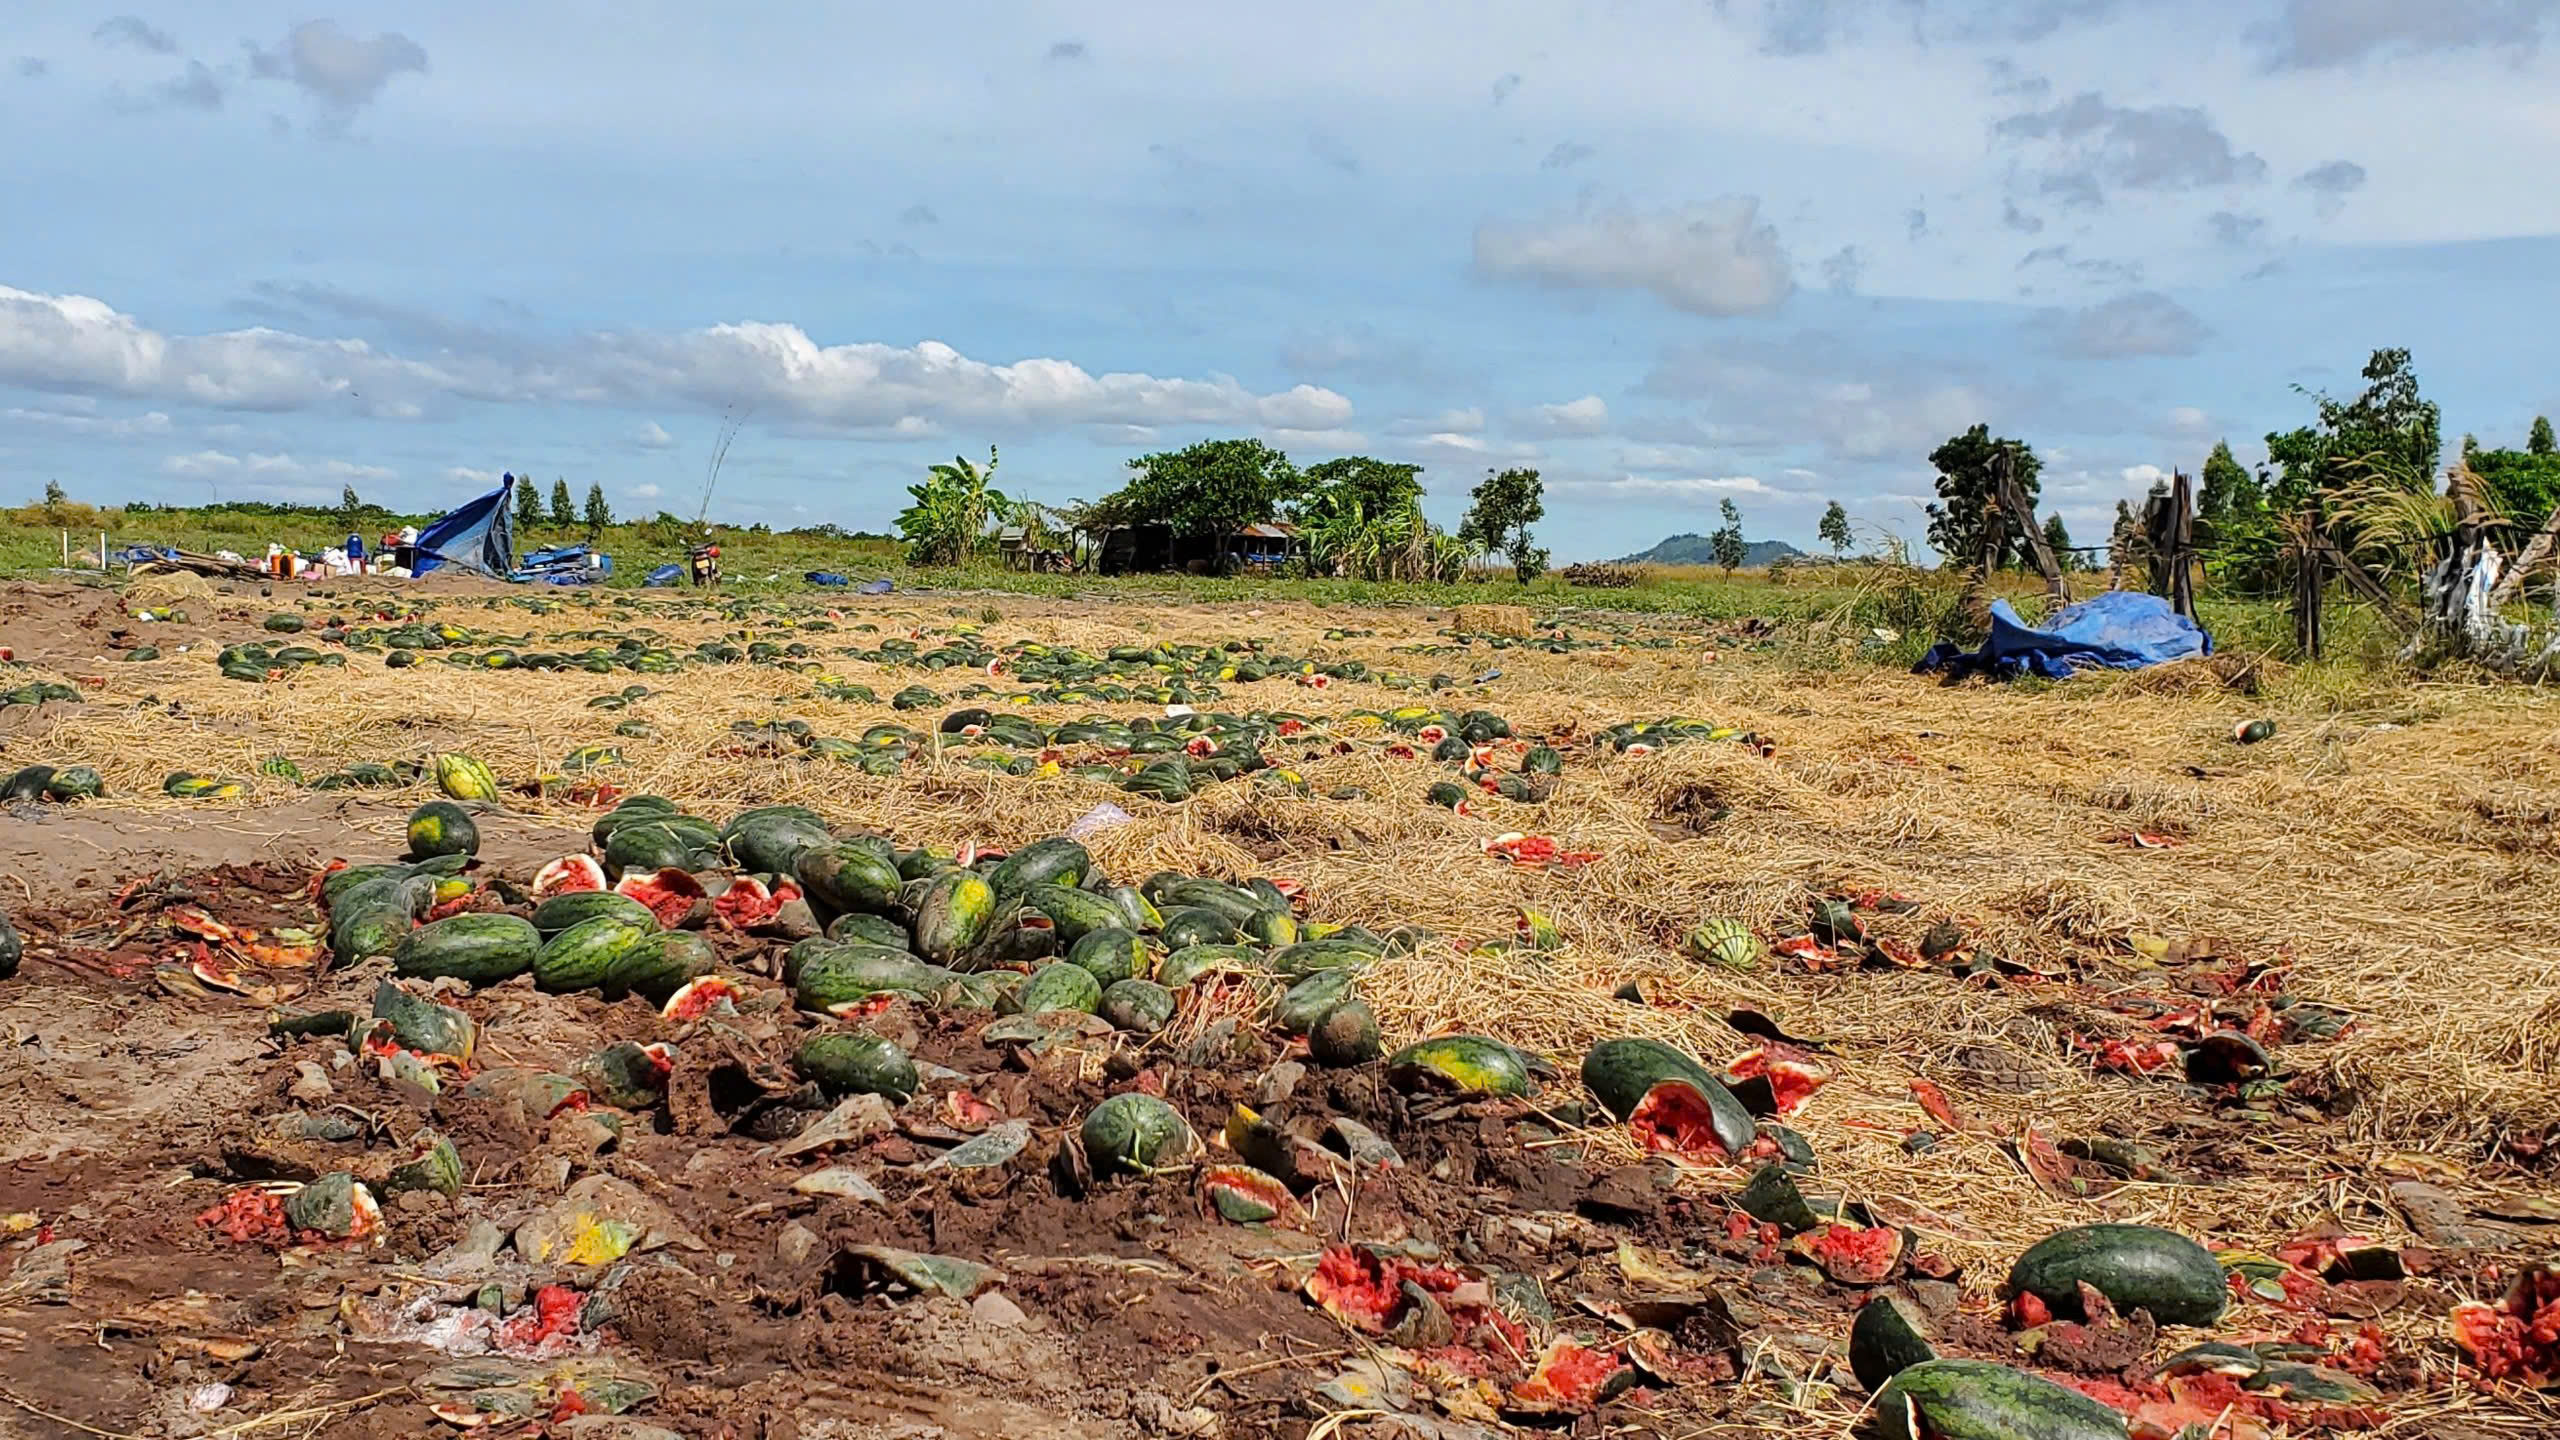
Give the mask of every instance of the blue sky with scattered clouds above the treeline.
M 0 28 L 0 500 L 886 528 L 1257 433 L 1559 559 L 1987 420 L 2084 541 L 2409 346 L 2560 413 L 2560 0 L 540 0 Z

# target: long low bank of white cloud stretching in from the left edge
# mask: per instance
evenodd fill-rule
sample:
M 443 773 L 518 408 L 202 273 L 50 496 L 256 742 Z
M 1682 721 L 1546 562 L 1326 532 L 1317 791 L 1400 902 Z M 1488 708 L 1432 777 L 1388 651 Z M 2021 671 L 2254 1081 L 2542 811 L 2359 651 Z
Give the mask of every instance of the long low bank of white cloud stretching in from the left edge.
M 1234 377 L 1088 374 L 1062 359 L 988 364 L 940 343 L 822 346 L 799 325 L 614 331 L 540 356 L 451 346 L 433 361 L 366 341 L 253 328 L 164 336 L 87 295 L 0 287 L 0 382 L 72 395 L 164 397 L 215 410 L 353 407 L 410 420 L 453 402 L 689 405 L 817 425 L 1249 425 L 1334 430 L 1352 402 L 1316 384 L 1257 395 Z

